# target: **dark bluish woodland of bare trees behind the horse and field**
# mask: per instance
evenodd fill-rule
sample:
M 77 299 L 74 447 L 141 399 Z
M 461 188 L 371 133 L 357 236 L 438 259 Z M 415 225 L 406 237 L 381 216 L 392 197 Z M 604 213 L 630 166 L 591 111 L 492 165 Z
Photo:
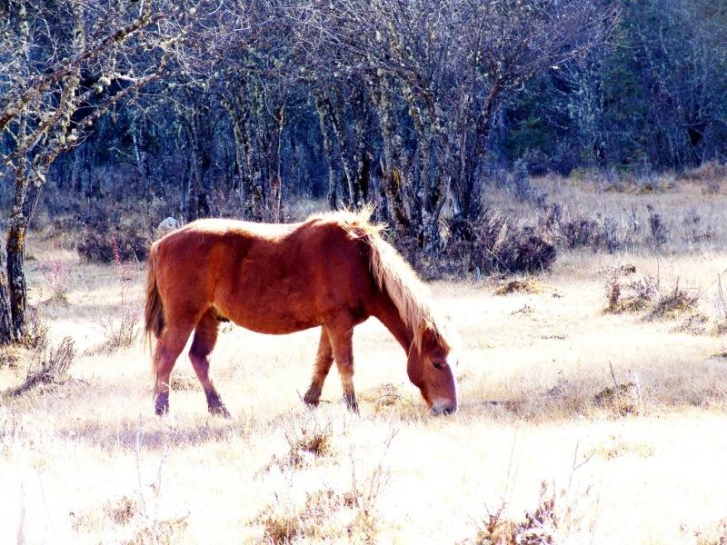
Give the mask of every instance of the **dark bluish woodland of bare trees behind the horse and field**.
M 0 0 L 0 343 L 36 218 L 143 260 L 168 216 L 318 199 L 373 205 L 429 276 L 535 271 L 559 211 L 529 176 L 725 154 L 721 0 Z M 507 232 L 495 185 L 540 227 Z

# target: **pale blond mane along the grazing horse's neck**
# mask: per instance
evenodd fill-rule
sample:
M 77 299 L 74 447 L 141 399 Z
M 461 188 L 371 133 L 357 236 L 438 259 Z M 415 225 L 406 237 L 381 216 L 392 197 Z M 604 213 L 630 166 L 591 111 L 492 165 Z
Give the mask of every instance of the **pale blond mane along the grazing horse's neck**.
M 423 333 L 426 331 L 448 346 L 443 321 L 433 310 L 429 290 L 409 263 L 383 240 L 381 232 L 384 226 L 371 222 L 372 212 L 371 208 L 364 207 L 359 212 L 335 212 L 317 217 L 335 221 L 354 238 L 368 243 L 373 278 L 379 289 L 389 294 L 406 327 L 413 332 L 413 346 L 417 351 L 422 349 Z

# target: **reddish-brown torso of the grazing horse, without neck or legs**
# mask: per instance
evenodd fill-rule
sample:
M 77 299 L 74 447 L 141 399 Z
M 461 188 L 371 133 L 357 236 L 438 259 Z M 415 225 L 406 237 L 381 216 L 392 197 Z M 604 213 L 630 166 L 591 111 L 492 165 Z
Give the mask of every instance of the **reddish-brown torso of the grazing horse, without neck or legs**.
M 214 306 L 239 325 L 271 333 L 314 327 L 342 309 L 367 313 L 365 244 L 334 218 L 198 220 L 164 236 L 154 253 L 160 292 L 178 312 Z

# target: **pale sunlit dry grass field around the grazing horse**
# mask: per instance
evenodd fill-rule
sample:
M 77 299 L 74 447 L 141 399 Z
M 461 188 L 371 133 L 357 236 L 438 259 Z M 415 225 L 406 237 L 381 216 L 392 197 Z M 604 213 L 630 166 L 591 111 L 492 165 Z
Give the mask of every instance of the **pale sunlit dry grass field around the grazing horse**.
M 508 294 L 512 278 L 433 283 L 461 337 L 452 417 L 425 410 L 403 351 L 373 321 L 354 335 L 360 415 L 339 402 L 335 372 L 318 410 L 300 400 L 317 331 L 225 325 L 213 373 L 234 418 L 207 414 L 186 357 L 171 415 L 155 417 L 148 351 L 110 342 L 141 312 L 144 265 L 82 263 L 66 238 L 34 233 L 31 299 L 50 346 L 70 336 L 76 354 L 62 383 L 0 405 L 0 542 L 725 542 L 727 199 L 692 185 L 594 197 L 549 183 L 573 210 L 622 211 L 620 222 L 654 203 L 675 242 L 564 251 Z M 679 236 L 692 209 L 709 241 Z M 619 278 L 622 265 L 635 272 Z M 604 312 L 612 282 L 625 291 L 645 277 L 692 302 Z M 44 353 L 5 352 L 0 389 Z

